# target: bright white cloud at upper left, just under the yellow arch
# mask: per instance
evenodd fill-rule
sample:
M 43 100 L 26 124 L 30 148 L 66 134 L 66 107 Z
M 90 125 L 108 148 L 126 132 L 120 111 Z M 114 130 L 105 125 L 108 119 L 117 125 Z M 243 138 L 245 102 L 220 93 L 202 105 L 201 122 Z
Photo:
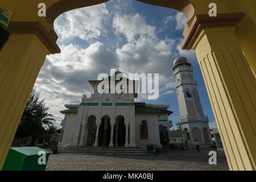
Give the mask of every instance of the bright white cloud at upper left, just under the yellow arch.
M 99 38 L 104 30 L 104 20 L 109 11 L 105 4 L 68 11 L 57 18 L 54 27 L 60 39 Z

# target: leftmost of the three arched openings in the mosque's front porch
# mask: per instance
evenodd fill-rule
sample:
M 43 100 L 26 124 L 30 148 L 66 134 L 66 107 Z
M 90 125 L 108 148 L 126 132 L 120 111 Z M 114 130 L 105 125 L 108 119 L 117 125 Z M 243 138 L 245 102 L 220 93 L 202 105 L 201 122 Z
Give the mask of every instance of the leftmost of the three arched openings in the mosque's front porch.
M 87 129 L 86 129 L 86 146 L 93 146 L 96 137 L 96 117 L 90 115 L 88 117 Z

